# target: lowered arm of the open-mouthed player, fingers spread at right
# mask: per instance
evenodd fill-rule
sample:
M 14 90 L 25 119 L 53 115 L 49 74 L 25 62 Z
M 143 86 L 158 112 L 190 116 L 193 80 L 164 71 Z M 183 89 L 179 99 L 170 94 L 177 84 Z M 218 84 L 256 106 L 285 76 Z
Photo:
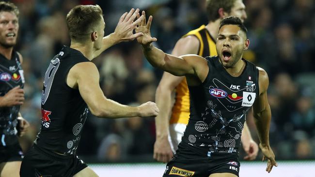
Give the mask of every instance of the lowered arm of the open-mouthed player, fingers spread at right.
M 267 99 L 267 89 L 269 85 L 268 74 L 262 68 L 259 69 L 259 90 L 260 95 L 253 104 L 253 116 L 257 127 L 259 137 L 259 147 L 261 148 L 265 159 L 268 159 L 266 171 L 270 173 L 273 166 L 278 166 L 275 161 L 275 155 L 269 145 L 269 128 L 271 120 L 271 110 Z

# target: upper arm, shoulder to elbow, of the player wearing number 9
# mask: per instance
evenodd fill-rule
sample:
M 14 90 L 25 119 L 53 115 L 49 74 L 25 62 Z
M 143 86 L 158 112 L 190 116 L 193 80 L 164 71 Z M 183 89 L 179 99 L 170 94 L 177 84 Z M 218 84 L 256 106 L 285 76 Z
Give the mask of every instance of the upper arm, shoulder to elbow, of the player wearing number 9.
M 92 62 L 77 64 L 76 75 L 79 92 L 85 103 L 89 106 L 91 112 L 99 110 L 98 106 L 105 99 L 102 89 L 99 86 L 99 73 Z

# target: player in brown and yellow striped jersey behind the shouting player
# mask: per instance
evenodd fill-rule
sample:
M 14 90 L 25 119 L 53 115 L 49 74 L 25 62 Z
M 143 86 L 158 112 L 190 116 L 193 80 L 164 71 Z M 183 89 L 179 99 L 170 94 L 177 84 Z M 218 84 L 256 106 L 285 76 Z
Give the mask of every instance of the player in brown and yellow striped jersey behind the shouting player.
M 172 55 L 216 56 L 216 39 L 221 20 L 230 15 L 238 16 L 242 21 L 247 18 L 242 0 L 206 0 L 206 9 L 209 23 L 189 31 L 179 39 Z M 172 92 L 175 92 L 174 104 Z M 189 120 L 189 89 L 185 76 L 164 72 L 157 87 L 156 103 L 160 113 L 155 121 L 154 159 L 169 162 L 177 150 Z M 258 145 L 252 140 L 246 122 L 241 141 L 247 153 L 244 159 L 254 160 L 258 153 Z

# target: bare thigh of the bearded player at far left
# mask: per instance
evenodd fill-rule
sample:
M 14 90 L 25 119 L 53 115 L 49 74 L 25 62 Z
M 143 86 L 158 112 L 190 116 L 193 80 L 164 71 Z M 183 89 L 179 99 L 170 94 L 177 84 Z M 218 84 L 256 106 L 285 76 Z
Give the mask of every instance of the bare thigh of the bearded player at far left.
M 20 177 L 21 161 L 0 163 L 0 177 Z

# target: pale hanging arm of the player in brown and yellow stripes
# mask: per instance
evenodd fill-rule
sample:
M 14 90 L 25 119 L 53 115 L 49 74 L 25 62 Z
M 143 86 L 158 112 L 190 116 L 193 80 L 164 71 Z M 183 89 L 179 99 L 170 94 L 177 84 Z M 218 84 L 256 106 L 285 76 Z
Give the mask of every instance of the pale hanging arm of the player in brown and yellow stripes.
M 199 41 L 194 36 L 181 38 L 175 44 L 172 55 L 181 56 L 186 54 L 197 54 Z M 171 145 L 168 141 L 169 118 L 172 109 L 172 92 L 184 79 L 184 76 L 175 76 L 164 72 L 157 86 L 156 103 L 160 113 L 155 118 L 156 142 L 154 144 L 153 158 L 158 162 L 169 162 L 173 157 Z

